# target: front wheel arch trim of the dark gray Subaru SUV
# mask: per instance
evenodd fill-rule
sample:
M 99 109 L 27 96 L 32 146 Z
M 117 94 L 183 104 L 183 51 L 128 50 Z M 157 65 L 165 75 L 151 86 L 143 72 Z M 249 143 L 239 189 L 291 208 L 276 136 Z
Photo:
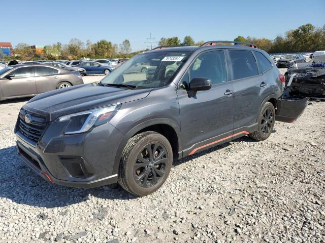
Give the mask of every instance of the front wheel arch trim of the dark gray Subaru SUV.
M 124 139 L 121 141 L 115 155 L 114 168 L 113 168 L 114 174 L 116 174 L 118 171 L 122 152 L 128 140 L 134 137 L 135 135 L 146 131 L 153 131 L 153 132 L 160 133 L 168 139 L 173 149 L 174 161 L 179 159 L 182 156 L 182 152 L 181 152 L 182 141 L 181 141 L 181 134 L 178 125 L 175 123 L 175 121 L 171 119 L 154 118 L 135 126 L 125 134 Z

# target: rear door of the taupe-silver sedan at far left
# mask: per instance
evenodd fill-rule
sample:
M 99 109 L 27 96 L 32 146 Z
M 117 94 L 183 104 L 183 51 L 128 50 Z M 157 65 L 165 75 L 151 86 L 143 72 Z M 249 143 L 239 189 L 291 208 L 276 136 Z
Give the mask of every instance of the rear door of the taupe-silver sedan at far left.
M 60 82 L 59 70 L 52 67 L 36 66 L 35 82 L 37 93 L 55 90 Z

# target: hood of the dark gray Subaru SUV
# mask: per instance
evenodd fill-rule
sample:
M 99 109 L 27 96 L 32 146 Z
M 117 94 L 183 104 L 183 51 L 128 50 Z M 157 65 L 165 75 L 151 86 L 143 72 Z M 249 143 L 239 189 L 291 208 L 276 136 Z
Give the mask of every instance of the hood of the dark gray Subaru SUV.
M 62 115 L 143 99 L 151 90 L 127 90 L 92 83 L 40 94 L 30 99 L 23 108 L 45 115 L 47 121 L 52 121 Z

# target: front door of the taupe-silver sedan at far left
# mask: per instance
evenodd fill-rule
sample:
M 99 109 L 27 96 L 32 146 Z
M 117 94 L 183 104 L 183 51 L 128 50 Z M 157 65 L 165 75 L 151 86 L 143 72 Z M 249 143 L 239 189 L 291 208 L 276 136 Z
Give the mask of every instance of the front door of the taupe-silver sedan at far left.
M 37 94 L 34 72 L 35 68 L 29 66 L 19 67 L 8 73 L 15 76 L 0 80 L 4 97 Z

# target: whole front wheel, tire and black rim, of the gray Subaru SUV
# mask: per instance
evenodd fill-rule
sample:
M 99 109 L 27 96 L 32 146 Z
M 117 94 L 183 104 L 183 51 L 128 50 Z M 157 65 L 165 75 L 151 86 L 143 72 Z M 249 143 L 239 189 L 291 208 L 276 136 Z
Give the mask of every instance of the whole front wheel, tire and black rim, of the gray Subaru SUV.
M 150 159 L 149 154 L 156 159 Z M 172 163 L 173 150 L 166 137 L 152 131 L 137 134 L 128 140 L 123 150 L 118 183 L 134 195 L 148 195 L 164 184 Z

